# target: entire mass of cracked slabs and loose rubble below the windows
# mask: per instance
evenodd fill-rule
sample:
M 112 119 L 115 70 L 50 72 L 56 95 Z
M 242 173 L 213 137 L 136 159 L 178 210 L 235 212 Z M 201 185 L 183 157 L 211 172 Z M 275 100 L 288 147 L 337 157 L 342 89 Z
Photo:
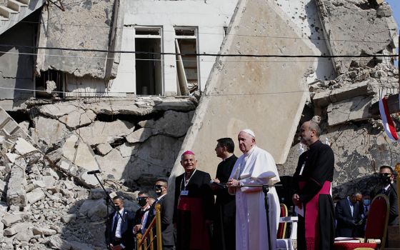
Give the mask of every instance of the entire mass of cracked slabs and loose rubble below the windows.
M 32 102 L 19 124 L 0 109 L 0 249 L 104 249 L 108 209 L 87 171 L 132 211 L 131 190 L 166 178 L 196 102 L 108 101 Z

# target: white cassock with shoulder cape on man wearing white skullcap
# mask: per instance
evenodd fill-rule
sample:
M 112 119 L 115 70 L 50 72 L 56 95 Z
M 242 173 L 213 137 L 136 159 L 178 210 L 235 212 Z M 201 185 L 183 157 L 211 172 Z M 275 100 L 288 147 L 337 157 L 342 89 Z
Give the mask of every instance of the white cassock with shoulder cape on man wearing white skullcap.
M 241 185 L 275 184 L 279 182 L 274 158 L 267 151 L 254 146 L 237 159 L 230 178 Z M 264 193 L 261 187 L 236 189 L 236 249 L 268 249 Z M 279 223 L 279 198 L 274 187 L 268 192 L 271 249 L 276 249 L 276 231 Z

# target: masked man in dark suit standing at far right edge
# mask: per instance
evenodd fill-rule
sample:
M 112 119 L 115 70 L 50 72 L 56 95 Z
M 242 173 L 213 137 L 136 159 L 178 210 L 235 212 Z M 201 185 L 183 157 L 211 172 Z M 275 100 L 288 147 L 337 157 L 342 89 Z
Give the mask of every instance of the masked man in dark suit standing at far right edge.
M 381 180 L 381 190 L 378 194 L 384 194 L 389 198 L 389 226 L 399 225 L 399 207 L 397 205 L 397 185 L 394 183 L 394 172 L 390 166 L 379 168 L 379 178 Z

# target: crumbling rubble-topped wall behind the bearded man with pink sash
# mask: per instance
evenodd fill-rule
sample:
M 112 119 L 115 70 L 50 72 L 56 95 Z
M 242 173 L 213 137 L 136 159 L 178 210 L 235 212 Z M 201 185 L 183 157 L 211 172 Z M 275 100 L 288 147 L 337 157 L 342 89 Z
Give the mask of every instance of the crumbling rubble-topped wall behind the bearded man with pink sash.
M 379 166 L 400 162 L 399 143 L 386 136 L 379 114 L 369 109 L 386 94 L 398 94 L 398 87 L 399 69 L 389 64 L 350 68 L 334 80 L 309 85 L 311 102 L 301 122 L 321 116 L 321 141 L 335 154 L 334 197 L 355 190 L 369 194 L 378 184 Z M 393 117 L 399 127 L 399 117 Z M 287 161 L 278 166 L 281 176 L 294 174 L 301 152 L 295 136 Z

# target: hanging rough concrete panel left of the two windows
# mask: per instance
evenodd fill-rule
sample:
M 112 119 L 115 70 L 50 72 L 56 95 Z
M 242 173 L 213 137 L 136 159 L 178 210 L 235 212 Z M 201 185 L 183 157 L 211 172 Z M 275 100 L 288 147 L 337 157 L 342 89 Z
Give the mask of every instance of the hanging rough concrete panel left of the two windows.
M 36 73 L 54 69 L 77 77 L 91 76 L 113 79 L 116 76 L 120 36 L 116 29 L 119 0 L 63 1 L 65 11 L 54 4 L 43 9 L 39 32 L 39 46 L 67 49 L 95 49 L 100 51 L 67 51 L 39 49 Z

